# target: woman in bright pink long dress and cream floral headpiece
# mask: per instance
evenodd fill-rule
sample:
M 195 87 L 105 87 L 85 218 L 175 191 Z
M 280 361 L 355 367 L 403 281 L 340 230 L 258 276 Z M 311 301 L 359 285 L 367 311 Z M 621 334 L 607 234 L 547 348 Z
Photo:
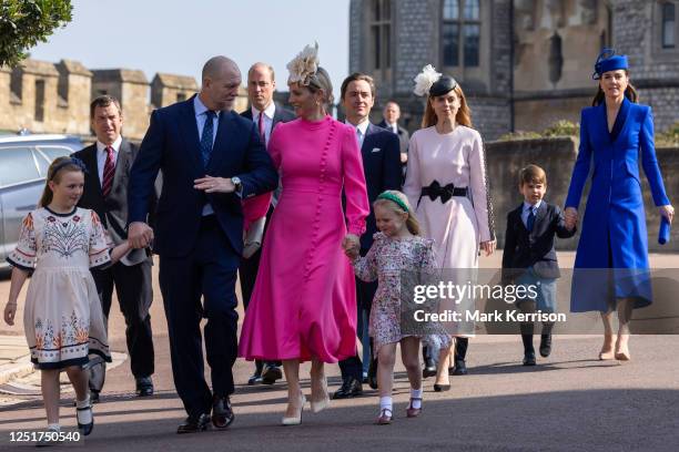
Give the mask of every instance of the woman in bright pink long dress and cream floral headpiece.
M 355 282 L 343 248 L 358 244 L 369 212 L 354 129 L 326 114 L 333 89 L 315 49 L 307 47 L 287 68 L 290 103 L 298 119 L 278 124 L 268 143 L 283 191 L 239 349 L 249 360 L 283 361 L 285 425 L 302 419 L 300 362 L 312 361 L 311 405 L 317 412 L 330 403 L 324 362 L 356 353 Z

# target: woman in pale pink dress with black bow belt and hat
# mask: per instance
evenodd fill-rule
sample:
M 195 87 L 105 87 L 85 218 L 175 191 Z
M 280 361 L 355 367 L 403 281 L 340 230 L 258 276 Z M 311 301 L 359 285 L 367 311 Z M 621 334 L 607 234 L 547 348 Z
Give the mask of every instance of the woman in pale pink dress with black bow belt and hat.
M 422 129 L 411 138 L 403 191 L 422 222 L 423 236 L 435 240 L 438 268 L 475 269 L 479 248 L 487 256 L 495 249 L 482 138 L 472 129 L 470 112 L 455 79 L 427 65 L 415 81 L 415 93 L 427 95 L 427 105 Z M 450 388 L 449 373 L 467 373 L 470 332 L 456 338 L 455 368 L 448 370 L 453 350 L 440 351 L 436 391 Z

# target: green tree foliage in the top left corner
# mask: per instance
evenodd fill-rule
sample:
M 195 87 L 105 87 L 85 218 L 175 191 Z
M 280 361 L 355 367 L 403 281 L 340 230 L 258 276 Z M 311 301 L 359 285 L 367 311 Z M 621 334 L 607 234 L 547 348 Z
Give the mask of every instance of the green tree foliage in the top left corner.
M 72 9 L 71 0 L 0 0 L 0 65 L 16 66 L 71 21 Z

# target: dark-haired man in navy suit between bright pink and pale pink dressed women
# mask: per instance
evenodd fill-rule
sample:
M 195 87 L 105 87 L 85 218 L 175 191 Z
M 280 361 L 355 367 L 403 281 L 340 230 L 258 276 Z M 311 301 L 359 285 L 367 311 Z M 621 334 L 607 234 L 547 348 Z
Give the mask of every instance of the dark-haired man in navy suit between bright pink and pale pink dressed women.
M 340 91 L 342 106 L 346 113 L 346 123 L 356 129 L 356 140 L 363 156 L 363 171 L 371 204 L 385 189 L 401 189 L 401 150 L 398 136 L 385 129 L 371 124 L 368 115 L 375 104 L 375 82 L 366 74 L 353 73 L 342 82 Z M 365 256 L 373 245 L 373 234 L 377 232 L 375 213 L 371 206 L 371 214 L 366 218 L 366 232 L 361 237 L 361 255 Z M 369 317 L 373 297 L 377 290 L 377 282 L 363 282 L 356 278 L 357 322 L 356 332 L 362 340 L 364 351 L 371 349 L 365 331 Z M 364 353 L 364 359 L 369 358 Z M 371 362 L 367 380 L 376 389 L 375 362 Z M 340 362 L 342 370 L 342 387 L 333 394 L 333 399 L 346 399 L 363 393 L 363 363 L 356 353 L 355 357 Z

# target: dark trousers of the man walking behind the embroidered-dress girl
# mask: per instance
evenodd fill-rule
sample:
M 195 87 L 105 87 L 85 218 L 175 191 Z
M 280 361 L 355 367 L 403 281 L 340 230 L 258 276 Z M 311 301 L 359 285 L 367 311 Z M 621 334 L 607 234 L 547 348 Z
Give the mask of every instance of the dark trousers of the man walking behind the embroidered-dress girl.
M 109 318 L 113 299 L 113 287 L 120 310 L 125 318 L 125 338 L 132 374 L 135 378 L 153 374 L 153 332 L 151 331 L 151 302 L 153 288 L 151 260 L 125 266 L 116 263 L 103 270 L 92 270 L 103 315 Z

